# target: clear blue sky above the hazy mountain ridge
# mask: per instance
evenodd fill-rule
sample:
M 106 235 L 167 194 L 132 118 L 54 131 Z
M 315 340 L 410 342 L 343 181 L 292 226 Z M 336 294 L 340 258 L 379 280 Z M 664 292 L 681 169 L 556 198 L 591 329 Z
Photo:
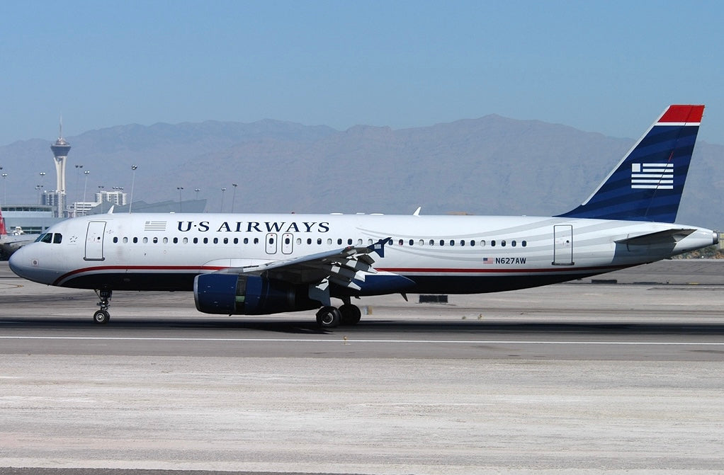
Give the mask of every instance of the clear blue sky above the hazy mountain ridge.
M 724 143 L 715 1 L 13 1 L 0 145 L 121 124 L 395 129 L 500 114 L 637 138 L 704 103 Z M 1 161 L 0 157 L 0 161 Z

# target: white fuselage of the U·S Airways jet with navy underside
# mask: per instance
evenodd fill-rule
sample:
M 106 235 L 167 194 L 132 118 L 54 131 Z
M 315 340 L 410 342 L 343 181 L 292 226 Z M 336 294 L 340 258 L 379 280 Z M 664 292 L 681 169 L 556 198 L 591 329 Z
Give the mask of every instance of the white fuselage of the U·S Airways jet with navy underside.
M 677 239 L 617 241 L 672 228 Z M 716 242 L 713 231 L 671 223 L 467 215 L 108 214 L 73 218 L 12 256 L 15 273 L 75 288 L 192 290 L 193 278 L 392 238 L 379 275 L 411 293 L 526 288 L 653 262 Z M 384 285 L 353 295 L 386 294 Z M 334 296 L 334 295 L 333 295 Z

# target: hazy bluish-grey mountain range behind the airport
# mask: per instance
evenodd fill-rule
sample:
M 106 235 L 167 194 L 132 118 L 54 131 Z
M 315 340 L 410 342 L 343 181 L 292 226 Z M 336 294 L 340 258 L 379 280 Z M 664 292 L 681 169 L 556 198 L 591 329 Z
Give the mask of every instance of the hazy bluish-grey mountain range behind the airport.
M 130 194 L 133 184 L 134 200 L 198 197 L 208 212 L 410 214 L 421 206 L 423 214 L 476 215 L 571 210 L 634 142 L 497 115 L 345 131 L 269 119 L 132 124 L 65 138 L 72 146 L 68 202 L 83 200 L 84 188 L 90 201 L 99 186 Z M 33 203 L 36 185 L 55 188 L 50 145 L 34 139 L 0 147 L 8 174 L 0 197 Z M 697 143 L 678 222 L 724 228 L 723 155 L 723 145 Z

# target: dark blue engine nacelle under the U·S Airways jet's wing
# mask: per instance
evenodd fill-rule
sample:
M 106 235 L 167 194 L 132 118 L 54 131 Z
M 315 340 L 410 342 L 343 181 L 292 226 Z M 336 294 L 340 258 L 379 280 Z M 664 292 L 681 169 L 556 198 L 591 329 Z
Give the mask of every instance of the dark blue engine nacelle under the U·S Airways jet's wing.
M 319 308 L 308 292 L 308 286 L 257 275 L 201 274 L 193 281 L 196 309 L 203 313 L 266 315 Z

